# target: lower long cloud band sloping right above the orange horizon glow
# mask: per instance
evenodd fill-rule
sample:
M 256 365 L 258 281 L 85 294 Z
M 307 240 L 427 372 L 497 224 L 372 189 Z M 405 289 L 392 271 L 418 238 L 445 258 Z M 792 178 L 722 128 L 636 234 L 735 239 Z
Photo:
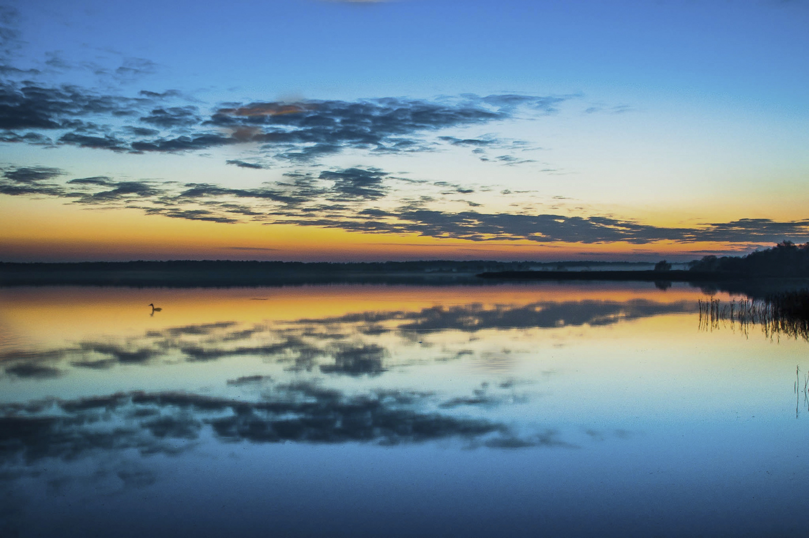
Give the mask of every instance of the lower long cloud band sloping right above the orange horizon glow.
M 530 207 L 517 214 L 484 213 L 473 209 L 480 206 L 477 202 L 458 197 L 475 196 L 485 189 L 447 181 L 407 180 L 375 167 L 286 172 L 282 180 L 252 189 L 209 183 L 119 181 L 106 176 L 56 182 L 65 175 L 50 167 L 7 167 L 0 178 L 0 194 L 62 197 L 76 204 L 129 207 L 148 215 L 187 220 L 284 223 L 475 242 L 522 239 L 542 244 L 650 244 L 664 240 L 766 244 L 784 239 L 799 243 L 809 240 L 809 219 L 777 222 L 741 218 L 694 227 L 655 227 L 597 214 L 531 213 Z M 406 189 L 400 189 L 402 186 Z M 414 196 L 419 192 L 421 196 Z M 502 196 L 511 194 L 502 191 Z M 447 201 L 460 201 L 472 209 L 435 209 L 446 206 Z M 386 209 L 380 209 L 380 205 Z

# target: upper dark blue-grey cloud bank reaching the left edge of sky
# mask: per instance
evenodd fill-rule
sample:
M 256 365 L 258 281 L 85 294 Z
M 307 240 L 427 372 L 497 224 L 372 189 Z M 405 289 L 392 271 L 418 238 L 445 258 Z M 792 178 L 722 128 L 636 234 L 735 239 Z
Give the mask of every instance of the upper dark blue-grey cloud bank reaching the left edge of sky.
M 129 58 L 114 72 L 97 72 L 123 80 L 149 74 L 154 68 L 150 61 Z M 6 130 L 2 140 L 43 143 L 43 131 L 59 131 L 53 142 L 57 145 L 136 153 L 251 144 L 268 159 L 308 163 L 348 149 L 375 154 L 434 150 L 433 142 L 425 138 L 430 133 L 504 121 L 519 111 L 553 113 L 566 98 L 460 95 L 437 100 L 254 101 L 219 106 L 209 113 L 188 102 L 167 107 L 161 104 L 166 99 L 184 97 L 174 90 L 142 90 L 137 97 L 125 97 L 78 86 L 6 81 L 0 83 L 0 129 Z M 87 117 L 96 121 L 83 123 Z M 19 133 L 19 129 L 30 132 Z M 442 140 L 460 146 L 482 143 Z

